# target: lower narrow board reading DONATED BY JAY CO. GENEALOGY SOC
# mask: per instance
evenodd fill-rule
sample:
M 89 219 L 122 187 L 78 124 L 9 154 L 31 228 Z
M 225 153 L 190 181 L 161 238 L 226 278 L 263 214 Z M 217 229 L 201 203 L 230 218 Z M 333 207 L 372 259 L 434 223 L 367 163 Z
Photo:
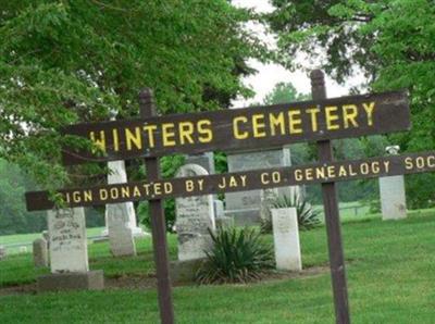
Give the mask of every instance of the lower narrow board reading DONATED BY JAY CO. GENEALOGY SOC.
M 186 178 L 104 185 L 59 190 L 69 207 L 200 196 L 252 189 L 353 180 L 435 171 L 435 151 L 274 167 Z M 27 210 L 54 207 L 48 191 L 26 192 Z

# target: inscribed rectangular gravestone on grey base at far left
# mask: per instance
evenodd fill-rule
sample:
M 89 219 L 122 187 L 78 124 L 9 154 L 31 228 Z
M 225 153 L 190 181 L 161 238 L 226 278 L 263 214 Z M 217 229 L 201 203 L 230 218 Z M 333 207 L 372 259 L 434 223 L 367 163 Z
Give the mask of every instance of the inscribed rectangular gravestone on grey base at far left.
M 88 272 L 85 210 L 48 211 L 51 273 Z

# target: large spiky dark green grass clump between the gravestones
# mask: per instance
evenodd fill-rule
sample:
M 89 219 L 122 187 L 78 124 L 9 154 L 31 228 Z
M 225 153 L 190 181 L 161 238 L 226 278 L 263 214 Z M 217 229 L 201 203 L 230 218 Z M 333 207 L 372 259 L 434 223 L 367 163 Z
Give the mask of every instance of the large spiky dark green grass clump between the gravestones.
M 248 283 L 261 279 L 274 267 L 272 247 L 251 228 L 209 230 L 213 247 L 197 273 L 199 284 Z

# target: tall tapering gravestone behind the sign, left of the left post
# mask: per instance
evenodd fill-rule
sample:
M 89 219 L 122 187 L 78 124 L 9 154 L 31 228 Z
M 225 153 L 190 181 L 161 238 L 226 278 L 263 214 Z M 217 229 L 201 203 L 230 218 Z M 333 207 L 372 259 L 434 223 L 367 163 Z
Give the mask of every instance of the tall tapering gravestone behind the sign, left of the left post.
M 110 169 L 109 184 L 127 182 L 124 161 L 109 162 L 108 167 Z M 114 257 L 136 256 L 134 236 L 144 235 L 144 232 L 137 227 L 136 212 L 132 201 L 107 204 L 105 226 L 110 250 Z

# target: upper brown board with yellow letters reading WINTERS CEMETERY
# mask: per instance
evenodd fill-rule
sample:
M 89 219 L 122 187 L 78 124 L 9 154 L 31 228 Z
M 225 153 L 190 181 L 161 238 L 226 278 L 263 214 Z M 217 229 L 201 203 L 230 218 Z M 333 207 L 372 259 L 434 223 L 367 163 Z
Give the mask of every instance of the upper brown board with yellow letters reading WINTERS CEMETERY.
M 64 134 L 90 139 L 103 154 L 65 148 L 64 164 L 173 153 L 259 149 L 387 134 L 410 128 L 406 91 L 269 107 L 78 124 Z

